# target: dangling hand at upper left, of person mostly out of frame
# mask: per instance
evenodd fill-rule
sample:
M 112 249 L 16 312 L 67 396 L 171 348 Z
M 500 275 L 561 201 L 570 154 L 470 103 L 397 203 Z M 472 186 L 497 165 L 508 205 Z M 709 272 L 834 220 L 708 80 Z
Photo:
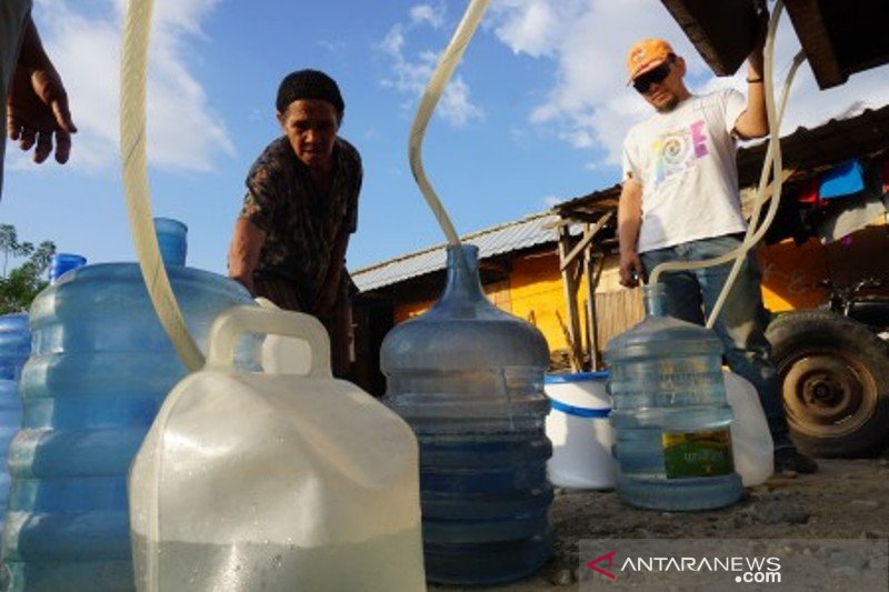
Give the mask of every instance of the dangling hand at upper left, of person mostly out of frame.
M 63 164 L 71 154 L 71 134 L 77 132 L 68 109 L 68 93 L 51 64 L 18 68 L 7 99 L 7 134 L 24 151 L 34 148 L 41 163 L 52 153 Z

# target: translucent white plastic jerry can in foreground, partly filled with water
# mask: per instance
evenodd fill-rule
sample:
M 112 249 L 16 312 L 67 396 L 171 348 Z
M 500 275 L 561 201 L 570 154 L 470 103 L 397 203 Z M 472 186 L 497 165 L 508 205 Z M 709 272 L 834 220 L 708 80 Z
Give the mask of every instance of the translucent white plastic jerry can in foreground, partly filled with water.
M 310 359 L 288 368 L 308 371 L 237 373 L 244 332 L 304 341 Z M 416 438 L 331 378 L 323 325 L 236 307 L 217 318 L 208 351 L 130 468 L 137 589 L 424 590 Z

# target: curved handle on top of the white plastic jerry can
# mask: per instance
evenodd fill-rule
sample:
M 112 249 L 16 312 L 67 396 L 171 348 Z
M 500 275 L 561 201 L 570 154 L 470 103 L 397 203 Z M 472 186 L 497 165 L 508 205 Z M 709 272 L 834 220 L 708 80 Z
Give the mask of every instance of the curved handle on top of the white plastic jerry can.
M 302 340 L 308 343 L 311 353 L 309 372 L 306 375 L 332 378 L 330 338 L 321 321 L 302 312 L 266 305 L 232 307 L 216 318 L 207 345 L 207 365 L 231 368 L 234 363 L 234 347 L 241 333 L 282 335 Z

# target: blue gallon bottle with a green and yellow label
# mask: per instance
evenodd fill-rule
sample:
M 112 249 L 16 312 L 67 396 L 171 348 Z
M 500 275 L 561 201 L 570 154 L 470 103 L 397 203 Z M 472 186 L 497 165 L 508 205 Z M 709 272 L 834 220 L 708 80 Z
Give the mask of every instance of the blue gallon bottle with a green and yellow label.
M 722 342 L 668 317 L 663 284 L 643 290 L 646 318 L 605 353 L 618 496 L 657 510 L 732 504 L 743 488 L 732 461 Z

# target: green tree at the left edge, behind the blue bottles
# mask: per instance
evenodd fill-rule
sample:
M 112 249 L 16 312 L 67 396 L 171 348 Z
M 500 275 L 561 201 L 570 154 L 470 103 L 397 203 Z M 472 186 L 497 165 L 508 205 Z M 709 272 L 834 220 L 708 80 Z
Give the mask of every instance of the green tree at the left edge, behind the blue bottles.
M 27 311 L 31 301 L 47 287 L 43 273 L 56 254 L 56 243 L 42 241 L 37 247 L 19 242 L 16 227 L 0 224 L 0 251 L 3 253 L 3 271 L 0 277 L 0 314 Z M 10 259 L 26 258 L 24 262 L 7 274 Z

